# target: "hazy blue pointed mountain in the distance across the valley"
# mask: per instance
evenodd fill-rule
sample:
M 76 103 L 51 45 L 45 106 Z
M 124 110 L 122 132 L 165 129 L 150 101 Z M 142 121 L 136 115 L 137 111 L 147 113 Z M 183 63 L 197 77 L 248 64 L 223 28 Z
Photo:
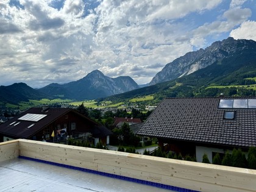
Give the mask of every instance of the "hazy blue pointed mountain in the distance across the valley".
M 96 99 L 139 88 L 130 77 L 111 78 L 99 70 L 92 71 L 82 79 L 68 84 L 49 84 L 39 90 L 51 96 L 63 95 L 71 99 Z

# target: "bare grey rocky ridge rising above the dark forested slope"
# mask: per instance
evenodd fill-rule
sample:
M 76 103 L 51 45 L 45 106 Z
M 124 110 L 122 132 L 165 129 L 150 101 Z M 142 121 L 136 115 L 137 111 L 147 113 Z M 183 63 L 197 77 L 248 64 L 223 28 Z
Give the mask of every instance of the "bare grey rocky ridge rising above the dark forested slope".
M 256 42 L 252 40 L 234 40 L 232 37 L 216 41 L 208 48 L 188 52 L 173 62 L 168 63 L 162 71 L 155 75 L 149 85 L 187 76 L 213 63 L 241 54 L 244 49 L 256 49 Z

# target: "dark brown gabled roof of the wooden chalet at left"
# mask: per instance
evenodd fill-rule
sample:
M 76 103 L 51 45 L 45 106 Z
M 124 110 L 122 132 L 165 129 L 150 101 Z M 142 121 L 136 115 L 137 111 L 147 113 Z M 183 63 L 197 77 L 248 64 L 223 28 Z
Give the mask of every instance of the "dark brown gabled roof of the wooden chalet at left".
M 16 138 L 29 138 L 35 135 L 38 131 L 43 129 L 44 127 L 48 126 L 48 124 L 51 124 L 54 122 L 57 118 L 60 116 L 65 115 L 66 113 L 73 111 L 74 113 L 77 113 L 71 108 L 48 108 L 47 110 L 42 110 L 40 107 L 32 107 L 29 108 L 29 110 L 26 110 L 26 112 L 21 113 L 18 116 L 15 116 L 11 120 L 5 122 L 4 124 L 0 125 L 0 133 L 3 133 L 4 135 L 10 135 Z M 44 118 L 40 119 L 37 122 L 33 121 L 22 121 L 19 120 L 19 118 L 23 115 L 26 115 L 27 113 L 32 114 L 43 114 L 46 115 Z M 79 113 L 77 113 L 79 114 Z M 84 118 L 89 119 L 84 116 Z M 16 123 L 12 124 L 13 122 L 18 123 L 16 126 L 14 126 Z M 92 121 L 89 119 L 89 121 Z M 12 124 L 12 125 L 10 125 Z M 34 126 L 29 127 L 30 125 L 34 124 Z M 97 124 L 97 123 L 95 123 Z

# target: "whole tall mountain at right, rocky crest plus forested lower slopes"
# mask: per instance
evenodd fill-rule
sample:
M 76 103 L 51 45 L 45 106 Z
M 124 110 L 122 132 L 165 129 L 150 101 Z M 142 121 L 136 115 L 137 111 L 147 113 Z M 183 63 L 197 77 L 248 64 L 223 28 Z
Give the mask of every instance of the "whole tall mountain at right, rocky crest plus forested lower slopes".
M 185 64 L 182 67 L 182 61 L 187 67 Z M 198 69 L 193 71 L 195 66 Z M 174 79 L 165 81 L 162 76 Z M 227 38 L 213 43 L 205 50 L 189 52 L 167 64 L 152 80 L 160 83 L 151 82 L 153 85 L 149 87 L 111 96 L 107 100 L 118 101 L 148 94 L 154 94 L 155 101 L 166 97 L 219 96 L 220 93 L 226 96 L 256 96 L 255 79 L 256 42 Z

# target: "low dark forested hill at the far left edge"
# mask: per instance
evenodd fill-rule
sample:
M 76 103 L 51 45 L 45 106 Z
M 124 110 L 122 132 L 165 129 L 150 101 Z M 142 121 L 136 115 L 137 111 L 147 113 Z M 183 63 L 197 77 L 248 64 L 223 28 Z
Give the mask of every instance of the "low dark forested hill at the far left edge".
M 47 95 L 41 93 L 24 83 L 15 83 L 9 86 L 0 86 L 0 101 L 4 103 L 17 104 L 29 99 L 42 99 Z

